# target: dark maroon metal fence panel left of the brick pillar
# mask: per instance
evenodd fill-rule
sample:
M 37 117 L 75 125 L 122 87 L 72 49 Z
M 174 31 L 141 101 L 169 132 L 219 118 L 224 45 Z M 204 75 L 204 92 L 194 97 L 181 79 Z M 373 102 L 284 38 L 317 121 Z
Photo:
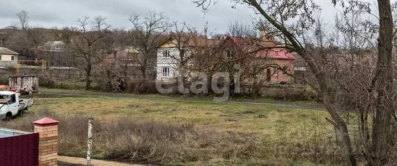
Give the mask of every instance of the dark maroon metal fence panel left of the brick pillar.
M 38 166 L 39 133 L 0 138 L 1 166 Z

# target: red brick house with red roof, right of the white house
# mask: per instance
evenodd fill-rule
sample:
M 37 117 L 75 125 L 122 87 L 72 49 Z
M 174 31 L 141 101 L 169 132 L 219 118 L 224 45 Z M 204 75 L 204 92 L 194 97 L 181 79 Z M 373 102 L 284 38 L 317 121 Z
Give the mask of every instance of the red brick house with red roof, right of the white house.
M 247 73 L 252 72 L 253 78 L 243 81 L 245 83 L 252 82 L 291 82 L 293 77 L 287 75 L 294 73 L 294 61 L 296 57 L 289 53 L 286 49 L 271 48 L 263 49 L 265 47 L 279 46 L 278 42 L 273 37 L 266 37 L 266 39 L 249 39 L 242 37 L 228 36 L 223 41 L 225 51 L 224 55 L 231 59 L 241 58 L 238 55 L 244 55 L 249 52 L 260 50 L 256 53 L 249 54 L 250 58 L 240 62 L 241 70 Z M 278 65 L 282 70 L 276 67 L 267 67 L 266 65 Z

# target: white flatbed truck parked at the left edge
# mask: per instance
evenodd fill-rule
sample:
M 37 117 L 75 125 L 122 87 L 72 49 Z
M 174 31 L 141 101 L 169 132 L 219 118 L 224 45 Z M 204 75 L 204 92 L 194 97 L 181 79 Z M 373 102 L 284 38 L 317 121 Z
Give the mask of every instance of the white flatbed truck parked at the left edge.
M 19 98 L 19 93 L 0 91 L 0 119 L 10 119 L 13 116 L 23 116 L 33 105 L 33 98 Z

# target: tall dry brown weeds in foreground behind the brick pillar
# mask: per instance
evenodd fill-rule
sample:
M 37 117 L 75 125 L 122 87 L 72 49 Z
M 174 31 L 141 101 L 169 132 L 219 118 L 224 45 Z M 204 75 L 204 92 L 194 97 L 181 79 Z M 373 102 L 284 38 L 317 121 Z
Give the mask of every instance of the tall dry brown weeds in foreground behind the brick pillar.
M 0 127 L 33 131 L 32 122 L 42 117 L 60 121 L 60 155 L 85 156 L 88 117 L 36 111 L 0 122 Z M 338 149 L 332 141 L 319 139 L 318 131 L 318 138 L 307 131 L 308 140 L 296 145 L 289 141 L 272 143 L 255 133 L 203 129 L 192 123 L 96 117 L 93 132 L 93 157 L 106 160 L 186 166 L 331 164 L 332 157 L 332 164 L 341 162 Z M 314 139 L 322 142 L 314 143 Z

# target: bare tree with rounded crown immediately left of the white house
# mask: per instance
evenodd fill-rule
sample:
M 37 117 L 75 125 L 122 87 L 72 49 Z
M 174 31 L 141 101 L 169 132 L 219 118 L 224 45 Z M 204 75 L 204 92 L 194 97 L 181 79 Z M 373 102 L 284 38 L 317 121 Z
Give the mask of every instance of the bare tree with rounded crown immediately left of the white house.
M 155 60 L 156 46 L 161 42 L 162 35 L 167 32 L 172 24 L 163 13 L 150 11 L 143 18 L 139 15 L 130 15 L 129 21 L 133 24 L 131 39 L 139 48 L 141 55 L 136 57 L 139 61 L 142 78 L 146 79 L 146 70 L 151 61 Z

